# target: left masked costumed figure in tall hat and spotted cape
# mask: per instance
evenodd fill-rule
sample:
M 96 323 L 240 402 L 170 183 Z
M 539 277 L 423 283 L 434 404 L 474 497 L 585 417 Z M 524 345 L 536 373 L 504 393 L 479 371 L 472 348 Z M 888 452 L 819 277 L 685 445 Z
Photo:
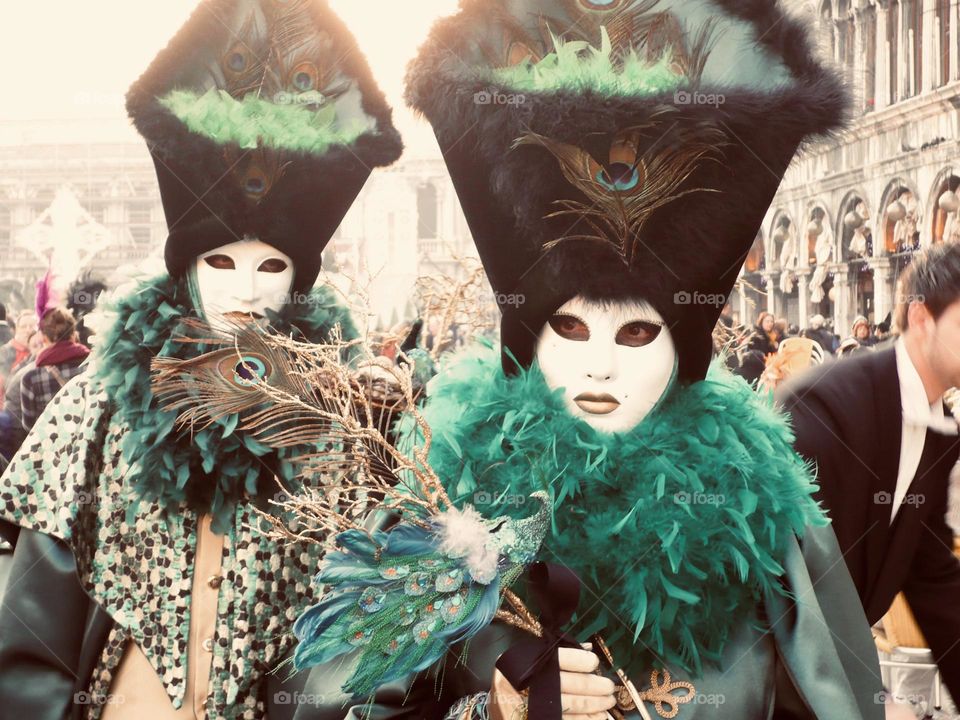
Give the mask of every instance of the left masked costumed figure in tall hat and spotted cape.
M 90 369 L 0 480 L 15 543 L 0 714 L 290 720 L 288 623 L 313 601 L 319 550 L 273 539 L 257 511 L 289 487 L 291 460 L 236 413 L 177 428 L 151 362 L 209 349 L 189 341 L 196 320 L 229 347 L 239 326 L 352 337 L 346 307 L 314 288 L 321 253 L 402 145 L 324 0 L 203 0 L 127 108 L 157 170 L 167 272 L 109 304 Z

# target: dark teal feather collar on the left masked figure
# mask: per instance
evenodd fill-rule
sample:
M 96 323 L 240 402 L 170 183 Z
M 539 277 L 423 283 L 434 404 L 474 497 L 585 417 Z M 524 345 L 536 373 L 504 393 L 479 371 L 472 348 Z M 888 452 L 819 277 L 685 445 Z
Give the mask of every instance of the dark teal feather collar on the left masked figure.
M 266 445 L 237 430 L 233 415 L 192 432 L 176 429 L 176 413 L 161 411 L 150 388 L 155 356 L 187 360 L 212 348 L 180 343 L 180 322 L 196 316 L 187 283 L 163 275 L 139 284 L 107 308 L 114 316 L 96 336 L 93 383 L 114 408 L 124 430 L 120 451 L 128 466 L 125 485 L 137 500 L 155 501 L 168 511 L 183 503 L 214 518 L 223 532 L 245 495 L 255 495 L 265 469 L 284 481 L 293 479 L 283 457 L 271 457 Z M 280 332 L 320 342 L 339 326 L 344 339 L 356 337 L 349 311 L 329 288 L 317 288 L 306 302 L 288 306 L 270 318 Z M 130 511 L 136 509 L 134 504 Z

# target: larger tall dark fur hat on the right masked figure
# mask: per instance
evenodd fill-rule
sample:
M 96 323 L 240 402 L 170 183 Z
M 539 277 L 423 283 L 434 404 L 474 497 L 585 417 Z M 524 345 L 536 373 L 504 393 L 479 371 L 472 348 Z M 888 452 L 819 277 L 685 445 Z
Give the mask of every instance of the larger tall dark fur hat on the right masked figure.
M 774 0 L 461 0 L 407 99 L 504 301 L 505 369 L 580 294 L 650 302 L 684 381 L 788 164 L 848 103 Z

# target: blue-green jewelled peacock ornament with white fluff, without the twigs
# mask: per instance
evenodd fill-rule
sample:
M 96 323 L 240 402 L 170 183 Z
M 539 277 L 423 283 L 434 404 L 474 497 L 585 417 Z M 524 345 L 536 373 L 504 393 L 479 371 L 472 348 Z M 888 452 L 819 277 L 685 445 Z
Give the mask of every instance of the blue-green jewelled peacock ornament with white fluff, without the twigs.
M 540 509 L 520 521 L 485 520 L 468 505 L 423 525 L 341 533 L 317 575 L 330 589 L 294 625 L 295 666 L 357 651 L 344 691 L 365 697 L 433 665 L 493 621 L 501 589 L 534 559 L 549 522 L 547 495 L 536 496 Z

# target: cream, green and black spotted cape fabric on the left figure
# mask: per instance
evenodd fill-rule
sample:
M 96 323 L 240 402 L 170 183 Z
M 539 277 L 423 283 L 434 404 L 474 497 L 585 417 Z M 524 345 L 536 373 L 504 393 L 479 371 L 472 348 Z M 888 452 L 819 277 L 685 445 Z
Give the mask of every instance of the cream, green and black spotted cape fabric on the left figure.
M 197 513 L 165 514 L 133 502 L 124 486 L 124 428 L 84 375 L 47 407 L 0 481 L 0 519 L 65 541 L 88 594 L 116 622 L 93 674 L 96 720 L 130 640 L 144 651 L 174 707 L 184 702 Z M 210 717 L 265 717 L 262 683 L 296 640 L 293 621 L 314 601 L 313 543 L 268 537 L 249 503 L 234 514 L 223 548 Z M 281 671 L 282 672 L 282 671 Z

